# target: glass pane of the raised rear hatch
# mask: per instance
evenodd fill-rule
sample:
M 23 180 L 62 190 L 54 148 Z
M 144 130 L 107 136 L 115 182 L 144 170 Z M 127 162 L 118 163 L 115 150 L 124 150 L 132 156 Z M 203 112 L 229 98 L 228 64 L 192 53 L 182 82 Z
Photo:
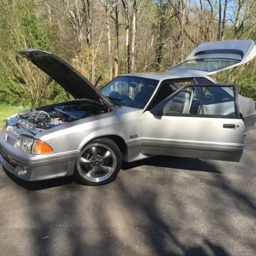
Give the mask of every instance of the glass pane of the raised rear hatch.
M 220 68 L 236 64 L 240 60 L 224 59 L 224 58 L 204 58 L 198 60 L 188 60 L 171 69 L 193 69 L 211 72 Z

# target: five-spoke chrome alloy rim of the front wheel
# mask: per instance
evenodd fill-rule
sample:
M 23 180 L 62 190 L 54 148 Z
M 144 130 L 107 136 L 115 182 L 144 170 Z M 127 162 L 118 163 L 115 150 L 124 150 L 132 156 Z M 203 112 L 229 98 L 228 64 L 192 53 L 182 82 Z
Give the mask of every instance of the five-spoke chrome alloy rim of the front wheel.
M 76 167 L 84 179 L 100 182 L 109 178 L 116 169 L 116 155 L 104 144 L 90 144 L 80 152 Z

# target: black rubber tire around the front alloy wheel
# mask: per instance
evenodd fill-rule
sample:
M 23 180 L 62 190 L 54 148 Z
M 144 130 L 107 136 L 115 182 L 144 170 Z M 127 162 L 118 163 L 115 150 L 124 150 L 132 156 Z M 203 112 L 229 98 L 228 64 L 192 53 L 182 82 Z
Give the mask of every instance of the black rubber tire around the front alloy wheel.
M 106 179 L 104 179 L 102 181 L 90 181 L 91 177 L 86 176 L 89 173 L 88 172 L 86 174 L 86 171 L 88 170 L 88 168 L 85 168 L 86 171 L 84 172 L 83 168 L 81 167 L 81 158 L 84 159 L 84 154 L 86 154 L 86 153 L 88 155 L 90 154 L 90 153 L 88 153 L 88 150 L 90 151 L 90 146 L 91 146 L 91 148 L 95 148 L 95 147 L 102 148 L 101 146 L 95 146 L 95 145 L 106 146 L 106 148 L 109 149 L 107 151 L 111 151 L 112 158 L 110 161 L 114 162 L 112 172 L 111 172 L 111 174 L 109 174 L 110 176 L 108 176 Z M 93 156 L 91 156 L 91 158 L 93 158 Z M 97 159 L 96 159 L 96 161 L 97 161 Z M 82 164 L 82 166 L 83 166 L 83 164 Z M 88 166 L 90 168 L 90 167 L 94 166 L 94 164 L 86 163 L 86 166 Z M 74 178 L 75 178 L 76 182 L 78 182 L 79 184 L 83 184 L 83 185 L 87 185 L 87 186 L 100 186 L 100 185 L 108 184 L 116 179 L 121 166 L 122 166 L 122 154 L 120 152 L 120 149 L 116 145 L 116 143 L 109 138 L 98 138 L 98 139 L 92 140 L 91 142 L 86 144 L 86 146 L 84 146 L 84 148 L 81 150 L 81 152 L 78 156 L 78 159 L 76 161 L 76 166 L 75 166 L 75 170 L 74 170 Z M 110 168 L 110 167 L 108 167 L 108 168 Z M 100 171 L 101 171 L 101 168 L 100 168 Z

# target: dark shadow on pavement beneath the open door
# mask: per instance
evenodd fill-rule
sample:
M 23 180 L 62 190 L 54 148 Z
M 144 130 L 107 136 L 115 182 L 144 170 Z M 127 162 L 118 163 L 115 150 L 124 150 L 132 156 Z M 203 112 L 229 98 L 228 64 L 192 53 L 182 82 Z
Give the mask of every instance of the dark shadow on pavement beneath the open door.
M 122 170 L 129 170 L 138 166 L 148 165 L 164 168 L 173 168 L 180 170 L 198 171 L 198 172 L 215 172 L 222 173 L 217 170 L 213 165 L 208 164 L 197 158 L 183 158 L 173 156 L 154 156 L 143 160 L 123 163 Z

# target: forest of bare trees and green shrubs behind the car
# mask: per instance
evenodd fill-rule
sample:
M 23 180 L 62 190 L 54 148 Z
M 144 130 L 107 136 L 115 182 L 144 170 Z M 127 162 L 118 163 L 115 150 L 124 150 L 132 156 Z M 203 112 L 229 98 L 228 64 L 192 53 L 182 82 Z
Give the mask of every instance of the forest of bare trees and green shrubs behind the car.
M 61 86 L 16 51 L 54 52 L 98 88 L 118 74 L 163 72 L 200 43 L 256 41 L 255 0 L 0 0 L 0 103 L 66 101 Z M 214 76 L 256 98 L 256 58 Z

